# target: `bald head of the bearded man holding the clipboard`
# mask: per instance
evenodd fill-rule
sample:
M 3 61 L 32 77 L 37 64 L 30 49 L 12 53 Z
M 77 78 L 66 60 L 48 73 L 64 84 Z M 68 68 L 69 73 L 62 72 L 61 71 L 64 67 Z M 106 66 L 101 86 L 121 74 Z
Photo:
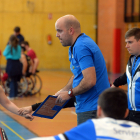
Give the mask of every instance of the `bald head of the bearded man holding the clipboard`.
M 59 38 L 63 46 L 71 46 L 76 38 L 81 34 L 79 21 L 73 15 L 60 17 L 55 23 L 57 31 L 56 37 Z

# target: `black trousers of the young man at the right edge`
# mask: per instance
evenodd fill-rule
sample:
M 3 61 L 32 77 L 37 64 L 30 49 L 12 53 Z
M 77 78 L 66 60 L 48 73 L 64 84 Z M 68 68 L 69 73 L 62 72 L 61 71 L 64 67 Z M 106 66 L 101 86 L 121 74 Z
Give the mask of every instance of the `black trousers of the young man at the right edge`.
M 129 110 L 129 114 L 125 120 L 130 120 L 140 125 L 140 111 Z

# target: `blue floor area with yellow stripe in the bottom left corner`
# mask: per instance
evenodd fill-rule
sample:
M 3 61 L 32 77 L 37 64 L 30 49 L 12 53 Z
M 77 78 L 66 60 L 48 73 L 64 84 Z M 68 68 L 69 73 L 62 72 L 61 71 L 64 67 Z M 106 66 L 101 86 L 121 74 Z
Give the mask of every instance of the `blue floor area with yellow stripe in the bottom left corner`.
M 3 125 L 3 123 L 6 124 L 10 129 Z M 2 111 L 0 111 L 0 127 L 5 130 L 8 140 L 24 140 L 37 137 L 37 135 L 30 132 L 27 128 L 16 122 Z M 17 134 L 11 130 L 15 131 Z

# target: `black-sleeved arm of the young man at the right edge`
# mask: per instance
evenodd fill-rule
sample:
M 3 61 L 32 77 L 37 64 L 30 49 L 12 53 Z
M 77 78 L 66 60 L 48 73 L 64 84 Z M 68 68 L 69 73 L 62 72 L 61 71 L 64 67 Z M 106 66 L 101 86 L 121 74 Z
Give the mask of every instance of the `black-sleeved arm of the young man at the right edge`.
M 114 83 L 112 84 L 111 87 L 119 87 L 119 86 L 122 86 L 122 85 L 125 85 L 127 84 L 127 77 L 126 77 L 126 72 L 120 76 L 119 78 L 117 78 Z

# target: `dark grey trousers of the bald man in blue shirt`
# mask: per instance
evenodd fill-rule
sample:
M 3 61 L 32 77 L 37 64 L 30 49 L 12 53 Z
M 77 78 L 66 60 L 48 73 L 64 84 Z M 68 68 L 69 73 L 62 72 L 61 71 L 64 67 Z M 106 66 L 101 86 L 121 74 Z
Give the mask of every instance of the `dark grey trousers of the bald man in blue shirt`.
M 88 119 L 96 118 L 97 110 L 77 113 L 77 125 L 87 121 Z

